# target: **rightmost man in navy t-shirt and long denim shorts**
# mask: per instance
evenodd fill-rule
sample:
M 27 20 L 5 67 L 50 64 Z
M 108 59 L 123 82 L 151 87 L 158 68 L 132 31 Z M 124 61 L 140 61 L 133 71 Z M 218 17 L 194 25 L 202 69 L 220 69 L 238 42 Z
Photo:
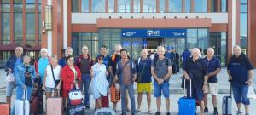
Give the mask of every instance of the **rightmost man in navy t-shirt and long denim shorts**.
M 241 104 L 243 104 L 246 115 L 248 115 L 250 100 L 247 98 L 247 94 L 248 86 L 253 83 L 253 65 L 247 55 L 241 53 L 240 46 L 235 45 L 233 52 L 234 55 L 232 55 L 227 69 L 238 109 L 237 114 L 241 114 Z

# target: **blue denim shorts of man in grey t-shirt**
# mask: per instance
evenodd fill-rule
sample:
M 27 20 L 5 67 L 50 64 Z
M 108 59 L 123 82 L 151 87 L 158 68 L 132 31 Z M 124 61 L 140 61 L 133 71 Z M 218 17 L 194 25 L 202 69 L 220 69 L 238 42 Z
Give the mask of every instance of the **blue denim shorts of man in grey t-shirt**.
M 154 80 L 154 97 L 161 97 L 162 91 L 165 98 L 169 98 L 169 82 L 165 81 L 162 84 L 158 84 L 157 81 Z

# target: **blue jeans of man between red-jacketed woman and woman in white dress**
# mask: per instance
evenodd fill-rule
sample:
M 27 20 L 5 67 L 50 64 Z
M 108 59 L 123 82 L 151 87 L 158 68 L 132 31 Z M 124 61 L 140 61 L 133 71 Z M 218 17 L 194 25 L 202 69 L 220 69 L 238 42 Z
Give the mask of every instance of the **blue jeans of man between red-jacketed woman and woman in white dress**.
M 82 75 L 82 83 L 80 85 L 80 89 L 84 88 L 84 106 L 90 106 L 90 95 L 89 95 L 89 87 L 90 87 L 90 74 Z

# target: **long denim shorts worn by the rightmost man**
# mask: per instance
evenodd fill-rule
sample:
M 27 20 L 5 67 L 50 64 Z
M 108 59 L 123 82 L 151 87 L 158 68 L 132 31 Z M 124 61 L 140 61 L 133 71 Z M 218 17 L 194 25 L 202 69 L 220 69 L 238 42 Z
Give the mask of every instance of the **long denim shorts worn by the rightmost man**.
M 250 105 L 250 100 L 247 98 L 248 86 L 245 83 L 232 82 L 232 91 L 236 103 L 242 103 L 244 105 Z

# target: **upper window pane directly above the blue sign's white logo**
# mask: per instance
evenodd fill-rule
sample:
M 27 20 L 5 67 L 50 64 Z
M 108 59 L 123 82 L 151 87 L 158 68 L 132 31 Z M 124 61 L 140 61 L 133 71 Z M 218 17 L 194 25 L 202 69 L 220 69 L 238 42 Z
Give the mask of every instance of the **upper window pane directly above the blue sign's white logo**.
M 155 13 L 156 12 L 155 0 L 143 0 L 143 13 Z

